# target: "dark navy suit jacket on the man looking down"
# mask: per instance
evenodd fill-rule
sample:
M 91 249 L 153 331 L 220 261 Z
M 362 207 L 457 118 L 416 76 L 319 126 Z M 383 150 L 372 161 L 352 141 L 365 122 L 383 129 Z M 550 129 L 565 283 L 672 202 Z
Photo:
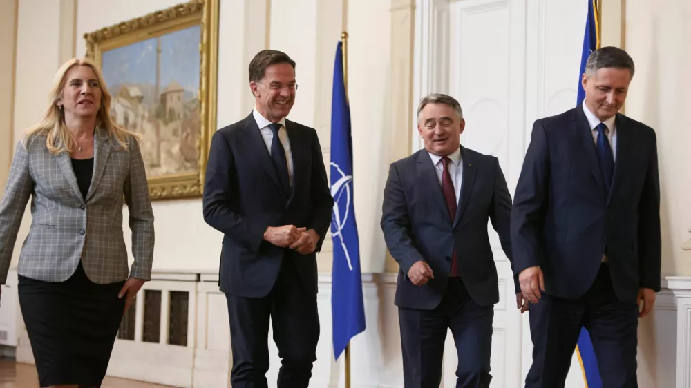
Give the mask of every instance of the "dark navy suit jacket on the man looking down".
M 539 119 L 511 214 L 514 271 L 541 266 L 545 293 L 578 298 L 607 253 L 618 298 L 659 291 L 660 193 L 652 128 L 616 115 L 612 188 L 605 189 L 583 107 Z

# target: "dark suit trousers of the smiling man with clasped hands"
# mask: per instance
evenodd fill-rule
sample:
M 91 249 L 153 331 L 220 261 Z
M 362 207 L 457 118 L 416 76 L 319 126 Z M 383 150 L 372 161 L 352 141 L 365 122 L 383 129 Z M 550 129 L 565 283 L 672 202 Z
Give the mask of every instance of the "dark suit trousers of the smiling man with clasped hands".
M 267 388 L 269 319 L 281 358 L 278 388 L 307 388 L 319 341 L 316 293 L 305 291 L 293 260 L 283 258 L 276 284 L 264 298 L 226 293 L 233 388 Z

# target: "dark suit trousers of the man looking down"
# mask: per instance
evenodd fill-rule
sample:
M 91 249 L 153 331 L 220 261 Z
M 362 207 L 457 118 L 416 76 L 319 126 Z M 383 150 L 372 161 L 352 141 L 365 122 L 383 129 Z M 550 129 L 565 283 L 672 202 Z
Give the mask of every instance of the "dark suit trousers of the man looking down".
M 526 388 L 564 387 L 581 327 L 590 334 L 603 387 L 636 388 L 638 306 L 614 293 L 609 265 L 600 264 L 596 280 L 580 298 L 542 294 L 530 305 L 533 365 Z

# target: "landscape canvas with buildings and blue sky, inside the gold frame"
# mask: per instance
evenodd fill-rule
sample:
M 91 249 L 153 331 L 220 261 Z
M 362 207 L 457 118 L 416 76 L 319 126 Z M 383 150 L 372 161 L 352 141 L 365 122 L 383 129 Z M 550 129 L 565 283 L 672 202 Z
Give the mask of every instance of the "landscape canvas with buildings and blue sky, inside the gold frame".
M 200 37 L 200 26 L 192 26 L 103 53 L 111 117 L 142 135 L 150 176 L 199 168 Z

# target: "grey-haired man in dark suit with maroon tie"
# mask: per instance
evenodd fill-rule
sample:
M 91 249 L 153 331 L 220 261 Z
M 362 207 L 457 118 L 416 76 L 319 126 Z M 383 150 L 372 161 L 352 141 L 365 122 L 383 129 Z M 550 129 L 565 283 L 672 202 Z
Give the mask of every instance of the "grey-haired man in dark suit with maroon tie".
M 390 166 L 381 216 L 400 266 L 395 304 L 404 383 L 439 387 L 450 328 L 459 359 L 456 387 L 489 387 L 499 287 L 487 223 L 511 260 L 511 195 L 496 157 L 460 146 L 465 121 L 458 101 L 428 95 L 417 116 L 425 149 Z M 522 308 L 520 293 L 516 303 Z

